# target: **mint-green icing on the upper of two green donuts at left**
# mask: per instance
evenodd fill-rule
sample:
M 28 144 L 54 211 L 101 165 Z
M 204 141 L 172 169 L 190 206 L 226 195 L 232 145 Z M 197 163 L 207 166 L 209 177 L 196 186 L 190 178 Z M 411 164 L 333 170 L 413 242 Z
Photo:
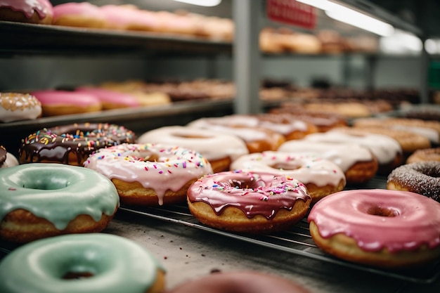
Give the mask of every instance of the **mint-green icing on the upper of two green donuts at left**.
M 115 185 L 91 169 L 44 163 L 0 169 L 0 221 L 26 209 L 63 230 L 79 214 L 99 221 L 118 205 Z

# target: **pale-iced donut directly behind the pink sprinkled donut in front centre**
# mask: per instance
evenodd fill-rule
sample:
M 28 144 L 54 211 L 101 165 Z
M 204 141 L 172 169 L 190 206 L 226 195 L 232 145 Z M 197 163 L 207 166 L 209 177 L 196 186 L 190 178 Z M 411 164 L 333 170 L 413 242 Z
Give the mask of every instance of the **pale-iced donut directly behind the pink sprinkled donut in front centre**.
M 267 172 L 290 176 L 306 185 L 312 204 L 345 187 L 345 175 L 337 164 L 301 152 L 259 152 L 242 155 L 231 164 L 232 170 Z

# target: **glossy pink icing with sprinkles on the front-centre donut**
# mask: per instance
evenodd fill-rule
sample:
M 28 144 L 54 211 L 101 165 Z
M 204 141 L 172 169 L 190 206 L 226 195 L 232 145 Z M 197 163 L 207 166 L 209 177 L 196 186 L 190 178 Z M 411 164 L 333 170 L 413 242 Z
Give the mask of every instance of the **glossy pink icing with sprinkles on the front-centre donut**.
M 237 207 L 248 218 L 259 214 L 272 219 L 278 210 L 291 210 L 297 200 L 310 198 L 299 181 L 258 172 L 220 172 L 201 178 L 188 189 L 190 202 L 206 202 L 217 215 L 226 207 Z

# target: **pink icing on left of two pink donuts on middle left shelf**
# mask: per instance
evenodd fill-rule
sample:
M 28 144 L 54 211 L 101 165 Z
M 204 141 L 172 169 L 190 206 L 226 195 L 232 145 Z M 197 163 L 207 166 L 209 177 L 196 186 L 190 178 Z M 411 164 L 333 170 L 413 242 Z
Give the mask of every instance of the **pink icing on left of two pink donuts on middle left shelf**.
M 32 95 L 41 102 L 41 105 L 78 105 L 79 107 L 86 107 L 101 103 L 94 96 L 72 91 L 34 91 Z

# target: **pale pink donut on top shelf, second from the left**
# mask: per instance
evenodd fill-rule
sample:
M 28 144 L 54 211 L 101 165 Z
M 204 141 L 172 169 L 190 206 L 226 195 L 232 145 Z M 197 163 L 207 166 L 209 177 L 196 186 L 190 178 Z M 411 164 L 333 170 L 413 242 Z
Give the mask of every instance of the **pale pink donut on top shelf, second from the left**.
M 53 7 L 53 25 L 102 28 L 106 18 L 98 6 L 89 2 L 69 2 Z

